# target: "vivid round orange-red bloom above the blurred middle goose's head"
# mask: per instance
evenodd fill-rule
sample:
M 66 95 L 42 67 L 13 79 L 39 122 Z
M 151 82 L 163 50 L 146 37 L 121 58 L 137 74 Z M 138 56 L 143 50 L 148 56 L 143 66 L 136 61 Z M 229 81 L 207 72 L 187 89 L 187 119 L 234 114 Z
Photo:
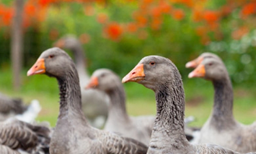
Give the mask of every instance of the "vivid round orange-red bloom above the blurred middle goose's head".
M 105 27 L 104 32 L 110 39 L 118 40 L 123 33 L 123 29 L 118 23 L 112 22 Z

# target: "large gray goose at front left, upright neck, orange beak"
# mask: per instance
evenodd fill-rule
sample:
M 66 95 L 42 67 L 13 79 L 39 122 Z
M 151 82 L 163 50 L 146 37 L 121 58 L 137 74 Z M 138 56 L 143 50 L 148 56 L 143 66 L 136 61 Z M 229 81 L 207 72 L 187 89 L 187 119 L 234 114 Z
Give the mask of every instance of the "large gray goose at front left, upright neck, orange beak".
M 83 115 L 75 64 L 60 48 L 44 51 L 27 75 L 55 77 L 60 89 L 60 113 L 50 143 L 50 154 L 145 154 L 147 146 L 135 139 L 99 130 Z

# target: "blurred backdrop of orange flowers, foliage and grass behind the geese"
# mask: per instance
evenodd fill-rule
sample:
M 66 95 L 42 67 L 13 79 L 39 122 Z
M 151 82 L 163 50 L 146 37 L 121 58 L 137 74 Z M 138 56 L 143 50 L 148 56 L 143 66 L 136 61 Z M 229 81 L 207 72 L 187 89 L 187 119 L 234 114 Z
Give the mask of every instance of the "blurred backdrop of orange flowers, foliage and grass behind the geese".
M 183 77 L 185 115 L 196 117 L 194 126 L 211 113 L 214 90 L 210 81 L 188 79 L 192 70 L 185 63 L 203 52 L 219 55 L 233 83 L 234 116 L 249 124 L 256 120 L 255 27 L 255 0 L 1 0 L 0 92 L 38 99 L 37 120 L 55 126 L 56 79 L 26 72 L 42 51 L 73 34 L 83 43 L 90 74 L 109 68 L 122 78 L 146 55 L 171 59 Z M 129 114 L 155 114 L 151 90 L 124 87 Z

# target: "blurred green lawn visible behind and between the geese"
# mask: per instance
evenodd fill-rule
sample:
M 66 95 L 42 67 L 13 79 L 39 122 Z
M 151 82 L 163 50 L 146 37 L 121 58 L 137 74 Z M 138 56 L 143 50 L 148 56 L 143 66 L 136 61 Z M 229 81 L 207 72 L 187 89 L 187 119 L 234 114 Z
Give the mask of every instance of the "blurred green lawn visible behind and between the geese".
M 22 72 L 22 86 L 18 92 L 14 92 L 11 85 L 11 70 L 1 69 L 0 92 L 12 96 L 21 97 L 26 103 L 33 99 L 40 101 L 42 110 L 38 121 L 49 121 L 55 126 L 59 113 L 58 85 L 55 78 L 46 75 L 26 77 L 26 71 Z M 213 106 L 213 87 L 210 81 L 203 79 L 184 78 L 186 95 L 185 116 L 194 116 L 196 119 L 190 125 L 202 126 L 211 114 Z M 155 114 L 156 105 L 154 92 L 137 83 L 124 84 L 127 94 L 127 110 L 130 115 Z M 250 124 L 256 120 L 256 88 L 234 88 L 233 114 L 237 121 Z

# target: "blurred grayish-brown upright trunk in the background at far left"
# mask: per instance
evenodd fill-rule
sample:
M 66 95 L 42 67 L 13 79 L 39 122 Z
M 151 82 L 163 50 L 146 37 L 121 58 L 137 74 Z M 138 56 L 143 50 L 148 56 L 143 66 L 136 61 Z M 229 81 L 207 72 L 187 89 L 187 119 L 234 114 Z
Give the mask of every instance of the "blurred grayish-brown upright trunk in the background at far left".
M 23 0 L 15 0 L 15 15 L 11 25 L 11 67 L 12 83 L 15 90 L 20 88 L 20 73 L 23 59 Z

